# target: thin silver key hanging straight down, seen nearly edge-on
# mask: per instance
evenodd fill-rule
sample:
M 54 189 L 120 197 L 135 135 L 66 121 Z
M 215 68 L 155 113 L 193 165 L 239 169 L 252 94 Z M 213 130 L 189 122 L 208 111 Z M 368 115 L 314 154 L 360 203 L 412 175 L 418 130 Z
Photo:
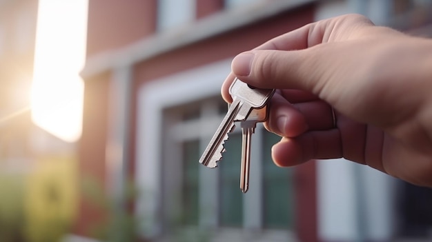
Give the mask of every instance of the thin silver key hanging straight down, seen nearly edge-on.
M 251 138 L 258 122 L 264 122 L 268 117 L 268 106 L 254 109 L 248 119 L 240 123 L 242 128 L 242 164 L 240 166 L 240 190 L 246 193 L 249 189 L 249 168 L 251 165 Z

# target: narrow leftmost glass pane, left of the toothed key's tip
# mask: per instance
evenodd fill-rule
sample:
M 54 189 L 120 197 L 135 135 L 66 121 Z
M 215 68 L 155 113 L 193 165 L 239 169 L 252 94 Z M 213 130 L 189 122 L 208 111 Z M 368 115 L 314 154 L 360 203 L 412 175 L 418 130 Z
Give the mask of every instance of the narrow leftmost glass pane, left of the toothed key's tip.
M 198 165 L 199 141 L 183 143 L 184 179 L 183 179 L 183 216 L 187 225 L 198 224 Z

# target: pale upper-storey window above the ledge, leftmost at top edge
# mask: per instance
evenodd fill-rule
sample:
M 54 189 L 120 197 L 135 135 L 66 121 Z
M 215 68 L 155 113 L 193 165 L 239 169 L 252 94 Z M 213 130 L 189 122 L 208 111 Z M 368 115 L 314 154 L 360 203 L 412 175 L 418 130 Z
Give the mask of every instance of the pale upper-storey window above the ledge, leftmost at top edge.
M 195 19 L 195 0 L 157 1 L 157 29 L 173 30 Z

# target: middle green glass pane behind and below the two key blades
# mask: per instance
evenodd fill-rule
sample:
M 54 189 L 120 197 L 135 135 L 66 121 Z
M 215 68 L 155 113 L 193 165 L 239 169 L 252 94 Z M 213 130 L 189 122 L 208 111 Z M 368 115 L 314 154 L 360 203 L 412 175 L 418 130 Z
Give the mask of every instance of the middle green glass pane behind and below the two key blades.
M 224 159 L 220 169 L 220 225 L 240 227 L 243 224 L 243 196 L 239 188 L 242 135 L 230 134 L 226 141 Z

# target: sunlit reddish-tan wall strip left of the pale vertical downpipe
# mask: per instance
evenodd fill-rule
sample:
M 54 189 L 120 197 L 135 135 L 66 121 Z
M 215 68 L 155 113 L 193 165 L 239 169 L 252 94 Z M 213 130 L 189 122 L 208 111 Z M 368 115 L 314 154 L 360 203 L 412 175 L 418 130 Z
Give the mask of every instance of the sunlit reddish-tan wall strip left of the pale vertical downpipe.
M 88 185 L 89 182 L 97 185 L 98 192 L 102 193 L 106 187 L 109 79 L 110 74 L 105 73 L 86 80 L 84 120 L 79 141 L 79 181 L 83 189 L 75 223 L 75 232 L 86 236 L 95 232 L 95 225 L 100 225 L 105 219 L 100 205 L 90 199 Z

